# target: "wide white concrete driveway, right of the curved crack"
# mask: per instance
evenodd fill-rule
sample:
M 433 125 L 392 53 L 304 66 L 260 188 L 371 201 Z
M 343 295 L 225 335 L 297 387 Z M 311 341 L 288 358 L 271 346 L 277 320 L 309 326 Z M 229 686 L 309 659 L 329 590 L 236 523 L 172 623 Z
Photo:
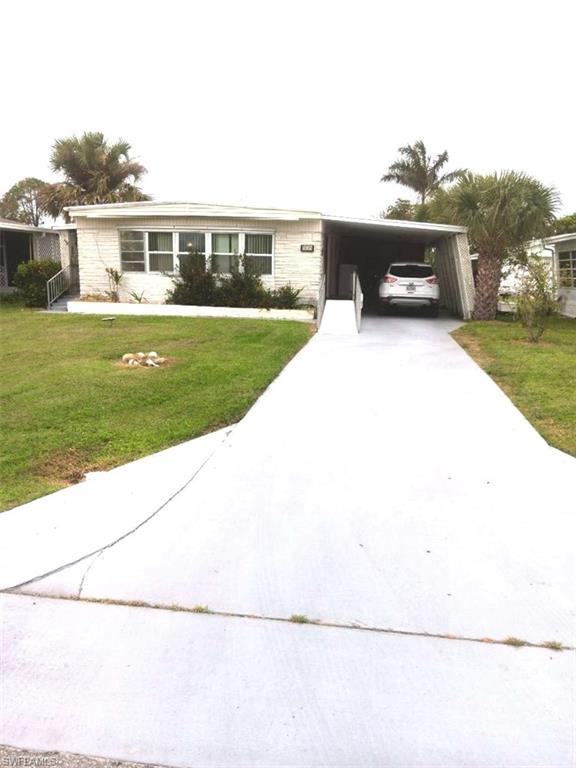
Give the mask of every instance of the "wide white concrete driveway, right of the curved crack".
M 454 327 L 315 337 L 145 525 L 3 596 L 0 741 L 230 768 L 572 766 L 573 652 L 497 641 L 574 643 L 576 461 Z

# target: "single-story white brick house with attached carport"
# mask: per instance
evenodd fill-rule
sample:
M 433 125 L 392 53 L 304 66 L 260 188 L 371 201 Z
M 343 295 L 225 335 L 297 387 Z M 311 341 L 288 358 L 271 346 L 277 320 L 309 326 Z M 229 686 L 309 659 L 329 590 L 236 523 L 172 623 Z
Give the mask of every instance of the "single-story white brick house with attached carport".
M 463 227 L 199 203 L 116 203 L 67 212 L 77 227 L 82 295 L 107 291 L 111 267 L 123 274 L 121 299 L 143 293 L 149 302 L 163 302 L 180 262 L 194 250 L 223 275 L 243 255 L 266 286 L 291 284 L 302 289 L 302 302 L 323 305 L 325 298 L 349 295 L 351 266 L 369 298 L 391 261 L 422 260 L 434 247 L 444 305 L 461 317 L 472 311 Z

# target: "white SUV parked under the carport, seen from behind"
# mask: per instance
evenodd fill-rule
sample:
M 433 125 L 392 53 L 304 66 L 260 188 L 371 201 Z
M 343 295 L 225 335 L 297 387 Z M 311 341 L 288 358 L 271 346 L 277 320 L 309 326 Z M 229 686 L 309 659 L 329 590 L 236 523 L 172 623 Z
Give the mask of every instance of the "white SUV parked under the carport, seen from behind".
M 438 316 L 440 286 L 430 264 L 395 262 L 378 286 L 380 308 L 385 312 L 393 306 L 424 307 L 432 317 Z

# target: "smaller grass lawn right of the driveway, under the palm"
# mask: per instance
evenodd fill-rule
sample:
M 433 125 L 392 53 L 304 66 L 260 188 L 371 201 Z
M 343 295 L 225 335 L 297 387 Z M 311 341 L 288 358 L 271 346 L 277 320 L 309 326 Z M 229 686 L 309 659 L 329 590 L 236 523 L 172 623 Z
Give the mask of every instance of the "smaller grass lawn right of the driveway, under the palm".
M 556 317 L 538 344 L 511 320 L 453 334 L 550 443 L 576 456 L 576 320 Z

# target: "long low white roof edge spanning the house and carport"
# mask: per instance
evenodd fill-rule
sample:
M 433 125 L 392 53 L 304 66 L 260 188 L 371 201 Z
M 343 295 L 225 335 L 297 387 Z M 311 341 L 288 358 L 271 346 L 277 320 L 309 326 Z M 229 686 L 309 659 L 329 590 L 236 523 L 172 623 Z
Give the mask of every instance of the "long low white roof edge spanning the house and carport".
M 108 203 L 102 205 L 76 205 L 65 209 L 72 218 L 138 218 L 150 216 L 198 216 L 202 218 L 270 219 L 273 221 L 322 220 L 349 226 L 373 227 L 389 233 L 412 234 L 424 237 L 449 233 L 465 233 L 465 227 L 433 224 L 421 221 L 399 221 L 382 218 L 353 218 L 335 216 L 319 211 L 286 208 L 257 208 L 247 205 L 221 205 L 218 203 L 186 203 L 145 201 L 136 203 Z

